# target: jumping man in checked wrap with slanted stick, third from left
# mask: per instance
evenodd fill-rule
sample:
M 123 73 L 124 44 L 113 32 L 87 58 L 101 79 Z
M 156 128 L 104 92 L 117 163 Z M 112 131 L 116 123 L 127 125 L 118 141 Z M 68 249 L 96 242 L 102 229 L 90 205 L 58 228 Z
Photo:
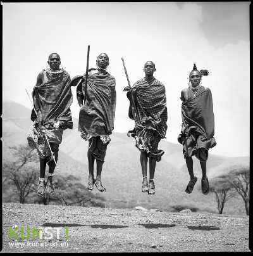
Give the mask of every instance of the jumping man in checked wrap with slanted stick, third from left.
M 161 160 L 163 150 L 158 150 L 159 141 L 167 131 L 167 106 L 164 85 L 154 78 L 156 67 L 152 61 L 144 65 L 145 77 L 125 87 L 130 100 L 128 116 L 135 120 L 135 128 L 128 136 L 135 138 L 135 146 L 140 150 L 142 166 L 142 192 L 154 195 L 154 172 L 156 162 Z M 134 101 L 133 101 L 134 100 Z M 147 183 L 147 160 L 149 158 L 149 184 Z

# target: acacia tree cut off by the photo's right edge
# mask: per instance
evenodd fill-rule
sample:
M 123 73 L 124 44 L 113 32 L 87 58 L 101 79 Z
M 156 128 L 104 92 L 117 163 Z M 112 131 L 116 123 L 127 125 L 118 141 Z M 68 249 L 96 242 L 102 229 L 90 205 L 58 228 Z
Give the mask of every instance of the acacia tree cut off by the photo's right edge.
M 245 211 L 249 215 L 249 167 L 239 167 L 232 170 L 228 181 L 244 200 Z

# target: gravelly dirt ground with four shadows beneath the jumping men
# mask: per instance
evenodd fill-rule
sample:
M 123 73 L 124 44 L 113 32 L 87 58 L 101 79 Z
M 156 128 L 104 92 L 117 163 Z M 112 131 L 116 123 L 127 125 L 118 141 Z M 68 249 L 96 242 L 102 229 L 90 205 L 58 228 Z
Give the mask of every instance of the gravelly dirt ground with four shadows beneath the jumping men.
M 10 246 L 14 225 L 69 227 L 68 246 Z M 250 252 L 249 216 L 3 203 L 2 252 Z

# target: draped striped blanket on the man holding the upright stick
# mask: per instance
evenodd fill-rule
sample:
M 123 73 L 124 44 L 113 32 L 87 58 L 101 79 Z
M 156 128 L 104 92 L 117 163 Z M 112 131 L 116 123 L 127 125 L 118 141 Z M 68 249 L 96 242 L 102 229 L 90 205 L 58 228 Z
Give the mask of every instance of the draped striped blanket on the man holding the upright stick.
M 82 91 L 85 94 L 85 75 Z M 106 70 L 98 70 L 88 76 L 86 101 L 80 108 L 78 131 L 91 136 L 112 133 L 116 107 L 115 79 Z

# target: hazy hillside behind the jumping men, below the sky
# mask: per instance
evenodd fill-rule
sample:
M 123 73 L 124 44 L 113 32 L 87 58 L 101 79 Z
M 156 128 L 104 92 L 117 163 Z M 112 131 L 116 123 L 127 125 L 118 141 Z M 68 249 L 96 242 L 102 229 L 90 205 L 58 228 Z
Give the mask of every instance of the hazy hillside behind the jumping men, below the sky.
M 80 138 L 77 122 L 78 120 L 74 118 L 73 130 L 67 130 L 63 134 L 63 142 L 59 146 L 59 172 L 80 177 L 80 181 L 86 184 L 88 143 Z M 3 104 L 3 157 L 7 155 L 8 145 L 26 143 L 28 128 L 31 124 L 30 110 L 13 102 Z M 189 177 L 183 159 L 182 146 L 161 141 L 159 147 L 165 153 L 161 162 L 157 162 L 156 195 L 149 196 L 141 192 L 139 150 L 135 148 L 133 139 L 128 138 L 126 134 L 113 132 L 102 171 L 102 180 L 107 188 L 106 193 L 102 195 L 107 199 L 107 207 L 131 208 L 140 205 L 145 208 L 173 210 L 175 205 L 182 205 L 197 207 L 202 212 L 216 212 L 214 195 L 211 193 L 202 195 L 197 189 L 201 184 L 201 168 L 197 159 L 194 158 L 194 170 L 199 180 L 194 192 L 187 195 L 185 187 Z M 229 172 L 231 166 L 240 164 L 249 165 L 249 157 L 230 158 L 210 153 L 207 176 L 209 178 L 218 176 Z M 97 193 L 96 188 L 94 193 Z M 244 213 L 243 203 L 235 198 L 228 202 L 224 212 Z

